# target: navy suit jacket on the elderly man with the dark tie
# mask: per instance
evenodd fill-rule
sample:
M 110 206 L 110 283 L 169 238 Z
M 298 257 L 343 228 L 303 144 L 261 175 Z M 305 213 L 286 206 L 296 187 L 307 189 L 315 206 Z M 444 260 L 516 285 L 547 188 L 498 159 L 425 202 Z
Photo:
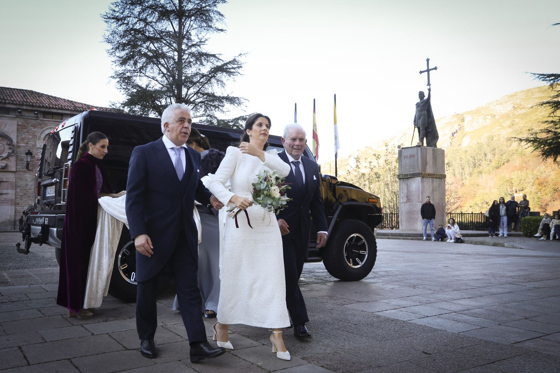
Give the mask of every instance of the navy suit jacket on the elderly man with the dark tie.
M 288 162 L 288 156 L 284 150 L 278 153 L 278 156 L 286 163 Z M 294 237 L 301 246 L 301 249 L 305 253 L 305 259 L 307 260 L 307 254 L 309 253 L 309 238 L 311 235 L 311 219 L 309 217 L 309 211 L 311 211 L 311 216 L 313 217 L 313 222 L 315 223 L 315 228 L 320 232 L 321 230 L 327 231 L 325 209 L 323 206 L 323 197 L 321 196 L 321 176 L 319 174 L 318 164 L 304 155 L 300 157 L 301 163 L 305 170 L 305 184 L 302 190 L 296 186 L 296 176 L 293 174 L 293 170 L 290 168 L 290 173 L 286 177 L 286 182 L 292 185 L 291 189 L 287 190 L 287 196 L 293 199 L 288 202 L 285 209 L 280 211 L 276 215 L 277 219 L 284 219 L 288 223 L 290 233 L 296 235 L 298 232 L 298 227 L 294 224 L 301 224 L 300 235 Z

